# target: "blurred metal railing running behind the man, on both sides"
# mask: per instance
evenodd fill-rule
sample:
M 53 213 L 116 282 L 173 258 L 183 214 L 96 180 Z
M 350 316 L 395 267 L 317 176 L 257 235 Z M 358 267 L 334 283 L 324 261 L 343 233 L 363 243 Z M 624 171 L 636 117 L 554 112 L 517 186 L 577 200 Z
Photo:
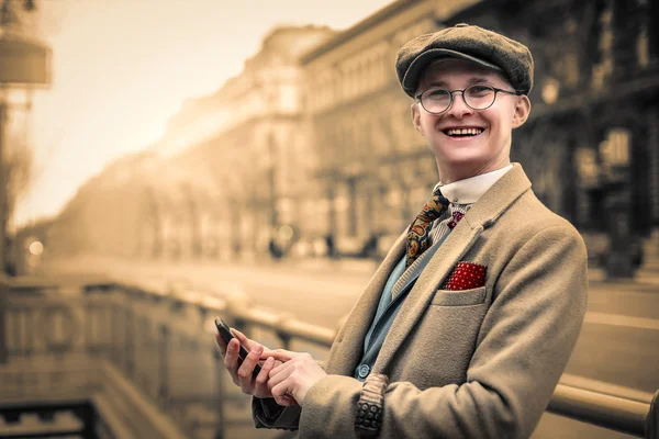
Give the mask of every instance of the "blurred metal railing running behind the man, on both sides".
M 38 354 L 40 349 L 60 356 L 80 350 L 102 356 L 192 437 L 196 431 L 214 428 L 215 437 L 221 438 L 236 423 L 250 424 L 248 398 L 228 384 L 219 350 L 209 342 L 215 330 L 215 315 L 248 335 L 255 330 L 270 334 L 276 337 L 271 341 L 286 349 L 303 342 L 319 347 L 324 354 L 340 326 L 320 327 L 290 314 L 259 308 L 242 293 L 220 297 L 176 285 L 144 288 L 129 282 L 88 284 L 77 299 L 54 301 L 40 296 L 31 302 L 30 294 L 14 296 L 5 292 L 0 294 L 0 359 L 11 362 L 20 356 Z M 34 319 L 43 309 L 48 309 L 51 322 L 59 322 L 63 329 L 37 342 L 30 339 L 34 331 L 21 333 L 21 328 L 36 325 L 20 322 L 30 315 Z M 72 338 L 76 330 L 70 327 L 71 322 L 85 327 L 85 337 Z M 175 383 L 186 374 L 198 381 L 213 378 L 214 382 L 200 389 L 214 391 L 194 392 L 183 386 L 188 393 L 181 393 L 181 386 L 175 389 Z M 658 401 L 659 391 L 650 395 L 589 380 L 574 382 L 570 375 L 563 375 L 547 410 L 632 436 L 659 439 Z M 236 420 L 235 413 L 228 416 L 226 404 L 242 407 L 244 418 Z M 191 407 L 200 406 L 205 410 L 194 415 Z

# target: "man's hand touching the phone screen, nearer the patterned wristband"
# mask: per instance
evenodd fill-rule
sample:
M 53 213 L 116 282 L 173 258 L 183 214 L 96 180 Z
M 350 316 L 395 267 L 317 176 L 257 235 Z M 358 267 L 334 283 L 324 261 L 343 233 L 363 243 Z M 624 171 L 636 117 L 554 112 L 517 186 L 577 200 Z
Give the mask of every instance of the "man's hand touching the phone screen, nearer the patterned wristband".
M 272 369 L 268 380 L 268 387 L 279 405 L 288 406 L 295 402 L 302 405 L 311 386 L 327 375 L 310 353 L 277 349 L 269 351 L 268 356 L 282 362 Z

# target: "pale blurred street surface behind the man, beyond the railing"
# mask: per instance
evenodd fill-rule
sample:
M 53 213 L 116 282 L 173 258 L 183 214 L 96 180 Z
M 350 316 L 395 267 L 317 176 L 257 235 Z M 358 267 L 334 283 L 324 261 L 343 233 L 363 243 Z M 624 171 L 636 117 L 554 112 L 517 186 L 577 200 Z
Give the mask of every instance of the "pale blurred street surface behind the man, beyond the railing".
M 101 269 L 103 267 L 104 269 Z M 372 262 L 281 262 L 257 264 L 123 263 L 80 260 L 52 264 L 49 273 L 103 270 L 120 279 L 163 285 L 168 280 L 198 292 L 242 290 L 259 307 L 292 313 L 299 319 L 336 327 L 368 283 Z M 659 288 L 633 282 L 592 281 L 589 309 L 566 373 L 630 387 L 648 394 L 659 389 Z M 316 351 L 319 356 L 326 352 Z M 560 427 L 559 427 L 560 426 Z M 561 431 L 561 436 L 557 436 Z M 545 414 L 534 438 L 625 437 Z

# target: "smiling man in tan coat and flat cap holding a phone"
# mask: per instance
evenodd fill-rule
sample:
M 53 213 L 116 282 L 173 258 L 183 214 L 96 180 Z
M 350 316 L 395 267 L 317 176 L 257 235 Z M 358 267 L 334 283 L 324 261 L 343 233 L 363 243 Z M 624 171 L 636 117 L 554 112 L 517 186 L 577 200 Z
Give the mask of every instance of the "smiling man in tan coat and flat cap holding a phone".
M 431 200 L 324 367 L 239 333 L 250 353 L 238 368 L 232 341 L 225 365 L 255 396 L 257 427 L 309 438 L 527 438 L 574 347 L 588 290 L 583 240 L 510 162 L 512 131 L 530 111 L 532 55 L 458 24 L 403 46 L 396 71 L 437 164 Z

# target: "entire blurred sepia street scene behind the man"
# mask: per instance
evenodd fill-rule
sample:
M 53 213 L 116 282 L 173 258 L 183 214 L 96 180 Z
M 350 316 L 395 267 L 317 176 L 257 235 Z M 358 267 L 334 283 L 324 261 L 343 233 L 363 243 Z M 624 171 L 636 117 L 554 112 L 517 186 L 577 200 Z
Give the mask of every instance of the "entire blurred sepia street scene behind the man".
M 0 438 L 291 437 L 212 318 L 326 357 L 438 180 L 395 54 L 460 22 L 534 54 L 512 159 L 589 251 L 534 438 L 647 435 L 615 408 L 659 389 L 659 2 L 0 0 Z

